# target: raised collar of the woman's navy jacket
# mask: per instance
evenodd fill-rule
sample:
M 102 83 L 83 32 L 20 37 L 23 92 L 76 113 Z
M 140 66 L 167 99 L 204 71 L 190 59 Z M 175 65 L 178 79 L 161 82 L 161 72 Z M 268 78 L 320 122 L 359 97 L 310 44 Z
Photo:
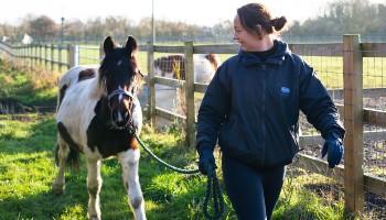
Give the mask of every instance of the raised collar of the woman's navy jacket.
M 275 44 L 277 44 L 276 52 L 271 56 L 269 56 L 265 63 L 254 54 L 240 50 L 238 52 L 238 55 L 240 57 L 242 64 L 246 66 L 261 65 L 261 64 L 281 65 L 282 62 L 285 61 L 286 54 L 290 54 L 291 52 L 287 43 L 282 41 L 275 40 Z

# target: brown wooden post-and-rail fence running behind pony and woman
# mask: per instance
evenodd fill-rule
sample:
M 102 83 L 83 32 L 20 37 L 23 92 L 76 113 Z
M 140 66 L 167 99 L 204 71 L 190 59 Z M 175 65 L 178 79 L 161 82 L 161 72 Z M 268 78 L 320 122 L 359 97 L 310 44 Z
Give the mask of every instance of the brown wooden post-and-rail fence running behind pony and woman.
M 307 170 L 332 177 L 345 187 L 345 207 L 351 212 L 363 211 L 364 188 L 368 191 L 386 196 L 386 180 L 371 174 L 364 174 L 363 166 L 363 139 L 372 136 L 385 136 L 385 131 L 363 132 L 364 123 L 386 128 L 386 111 L 363 108 L 363 97 L 376 97 L 385 95 L 386 88 L 363 89 L 363 58 L 383 57 L 385 58 L 386 43 L 360 43 L 357 35 L 345 35 L 343 43 L 331 44 L 290 44 L 292 52 L 303 56 L 337 56 L 342 57 L 344 85 L 342 89 L 331 89 L 330 94 L 336 99 L 344 99 L 344 105 L 337 105 L 341 116 L 344 116 L 344 123 L 347 130 L 345 139 L 345 162 L 335 169 L 329 169 L 326 162 L 313 156 L 300 154 L 298 167 Z M 147 52 L 149 85 L 148 117 L 151 122 L 156 121 L 156 116 L 169 120 L 185 121 L 186 140 L 190 146 L 195 143 L 195 108 L 194 92 L 205 92 L 207 85 L 195 84 L 193 80 L 194 54 L 236 54 L 239 46 L 236 44 L 222 45 L 193 45 L 186 42 L 183 46 L 163 45 L 141 45 L 141 51 Z M 0 51 L 15 58 L 30 59 L 32 64 L 45 66 L 65 66 L 67 68 L 79 63 L 79 47 L 74 45 L 29 45 L 12 46 L 0 43 Z M 64 51 L 58 53 L 55 51 Z M 186 80 L 170 79 L 154 76 L 154 53 L 184 54 Z M 56 54 L 56 55 L 55 55 Z M 64 55 L 66 58 L 64 58 Z M 98 53 L 98 61 L 100 54 Z M 50 64 L 50 65 L 49 65 Z M 185 89 L 186 116 L 159 108 L 156 106 L 156 84 L 174 88 Z M 321 142 L 321 138 L 301 136 L 300 143 L 307 143 L 310 139 L 313 143 Z M 318 167 L 318 168 L 315 168 Z

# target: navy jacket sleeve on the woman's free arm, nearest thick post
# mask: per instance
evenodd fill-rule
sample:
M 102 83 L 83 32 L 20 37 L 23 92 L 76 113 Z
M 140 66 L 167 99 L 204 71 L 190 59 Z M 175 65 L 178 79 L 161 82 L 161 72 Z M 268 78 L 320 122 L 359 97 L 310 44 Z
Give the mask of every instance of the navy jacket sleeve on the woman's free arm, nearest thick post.
M 302 63 L 300 70 L 300 109 L 307 120 L 325 136 L 333 132 L 344 138 L 344 128 L 337 109 L 317 76 L 317 73 L 307 63 Z

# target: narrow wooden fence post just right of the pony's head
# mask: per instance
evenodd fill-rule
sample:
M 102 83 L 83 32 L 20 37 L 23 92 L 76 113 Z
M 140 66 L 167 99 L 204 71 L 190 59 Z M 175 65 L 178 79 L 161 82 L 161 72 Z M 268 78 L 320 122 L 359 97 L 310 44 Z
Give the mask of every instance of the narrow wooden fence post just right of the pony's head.
M 154 45 L 148 42 L 148 86 L 149 86 L 149 109 L 148 117 L 150 124 L 156 124 L 156 81 L 154 81 Z

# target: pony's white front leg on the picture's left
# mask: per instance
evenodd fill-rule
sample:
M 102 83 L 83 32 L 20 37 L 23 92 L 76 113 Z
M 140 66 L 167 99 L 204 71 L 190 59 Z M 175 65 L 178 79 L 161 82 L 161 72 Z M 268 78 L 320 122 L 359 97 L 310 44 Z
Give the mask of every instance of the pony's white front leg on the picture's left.
M 88 218 L 92 220 L 100 220 L 100 160 L 87 158 Z

